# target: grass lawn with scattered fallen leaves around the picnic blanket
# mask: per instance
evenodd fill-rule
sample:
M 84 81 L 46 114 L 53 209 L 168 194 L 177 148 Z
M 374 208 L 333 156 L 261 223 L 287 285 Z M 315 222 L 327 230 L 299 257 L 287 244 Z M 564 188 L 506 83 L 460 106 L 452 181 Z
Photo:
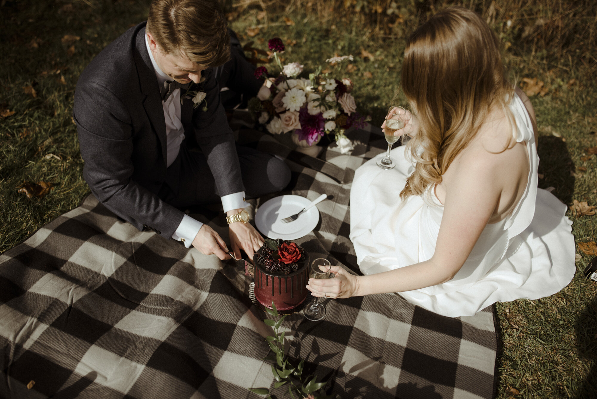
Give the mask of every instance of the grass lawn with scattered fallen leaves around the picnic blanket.
M 539 186 L 552 187 L 567 205 L 574 200 L 597 205 L 593 3 L 465 2 L 500 35 L 512 81 L 537 89 L 531 101 L 540 130 Z M 146 19 L 149 1 L 0 4 L 2 252 L 90 192 L 71 118 L 76 80 L 104 46 Z M 325 67 L 334 54 L 355 56 L 344 75 L 354 82 L 359 111 L 380 125 L 399 86 L 405 35 L 441 7 L 439 1 L 242 0 L 227 2 L 226 11 L 243 44 L 254 41 L 253 47 L 266 50 L 267 39 L 279 36 L 287 44 L 285 60 L 307 71 Z M 404 98 L 398 94 L 395 102 Z M 27 198 L 17 192 L 23 182 L 49 182 L 53 188 L 43 198 Z M 499 398 L 597 397 L 597 282 L 581 273 L 597 254 L 597 216 L 570 210 L 568 216 L 582 245 L 573 282 L 551 297 L 496 305 L 503 340 Z

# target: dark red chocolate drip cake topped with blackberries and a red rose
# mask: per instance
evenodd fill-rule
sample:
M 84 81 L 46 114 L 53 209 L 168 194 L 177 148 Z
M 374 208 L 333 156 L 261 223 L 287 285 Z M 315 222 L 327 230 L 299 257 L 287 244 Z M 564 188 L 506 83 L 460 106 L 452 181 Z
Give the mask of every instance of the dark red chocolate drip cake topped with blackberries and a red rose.
M 255 254 L 255 297 L 279 311 L 296 308 L 307 297 L 309 254 L 290 241 L 266 239 Z

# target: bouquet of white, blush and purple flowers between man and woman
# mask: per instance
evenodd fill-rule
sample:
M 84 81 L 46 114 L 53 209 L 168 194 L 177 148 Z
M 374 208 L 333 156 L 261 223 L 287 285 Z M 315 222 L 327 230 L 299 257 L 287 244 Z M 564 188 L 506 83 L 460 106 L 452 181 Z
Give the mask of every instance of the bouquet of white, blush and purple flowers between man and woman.
M 355 99 L 351 91 L 352 81 L 348 78 L 336 79 L 330 73 L 322 73 L 321 66 L 310 73 L 309 79 L 299 78 L 303 65 L 298 62 L 282 66 L 278 53 L 284 51 L 280 38 L 267 43 L 273 52 L 279 75 L 269 78 L 266 67 L 255 70 L 258 79 L 264 84 L 257 97 L 249 102 L 249 109 L 257 122 L 272 134 L 293 132 L 295 142 L 306 142 L 308 146 L 319 142 L 325 134 L 334 136 L 342 154 L 352 151 L 353 145 L 344 135 L 351 127 L 363 127 L 365 118 L 356 112 Z M 326 60 L 331 65 L 340 66 L 352 56 L 332 57 Z

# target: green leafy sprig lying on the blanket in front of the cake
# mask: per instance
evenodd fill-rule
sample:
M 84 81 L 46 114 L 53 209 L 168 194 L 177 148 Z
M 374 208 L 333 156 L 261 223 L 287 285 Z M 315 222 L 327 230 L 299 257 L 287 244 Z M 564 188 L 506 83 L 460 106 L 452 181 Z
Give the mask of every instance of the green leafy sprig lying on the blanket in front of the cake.
M 266 239 L 267 240 L 267 239 Z M 272 241 L 272 240 L 270 240 Z M 278 317 L 278 310 L 272 300 L 272 309 L 265 309 L 267 314 L 273 317 Z M 267 326 L 273 327 L 273 336 L 267 336 L 267 345 L 272 349 L 274 356 L 265 357 L 264 360 L 275 360 L 276 363 L 272 364 L 273 378 L 276 380 L 273 383 L 273 388 L 278 389 L 281 386 L 288 385 L 288 392 L 291 397 L 295 397 L 297 394 L 299 398 L 313 395 L 313 398 L 327 399 L 335 398 L 336 395 L 325 394 L 325 386 L 327 382 L 316 382 L 317 377 L 313 375 L 303 375 L 304 360 L 298 361 L 298 359 L 291 359 L 285 354 L 284 351 L 284 334 L 285 331 L 280 332 L 280 327 L 284 323 L 286 316 L 282 316 L 278 321 L 269 319 L 263 320 Z M 298 361 L 298 363 L 297 363 Z M 267 388 L 250 388 L 251 392 L 255 392 L 260 395 L 269 395 L 269 389 Z

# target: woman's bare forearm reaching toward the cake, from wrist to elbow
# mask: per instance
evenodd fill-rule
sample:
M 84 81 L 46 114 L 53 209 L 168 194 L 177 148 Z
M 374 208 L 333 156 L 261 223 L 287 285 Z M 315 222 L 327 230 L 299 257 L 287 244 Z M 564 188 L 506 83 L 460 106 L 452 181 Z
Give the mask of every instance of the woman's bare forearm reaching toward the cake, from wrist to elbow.
M 450 281 L 454 274 L 456 272 L 449 267 L 437 265 L 430 259 L 387 272 L 358 276 L 354 295 L 418 290 Z

